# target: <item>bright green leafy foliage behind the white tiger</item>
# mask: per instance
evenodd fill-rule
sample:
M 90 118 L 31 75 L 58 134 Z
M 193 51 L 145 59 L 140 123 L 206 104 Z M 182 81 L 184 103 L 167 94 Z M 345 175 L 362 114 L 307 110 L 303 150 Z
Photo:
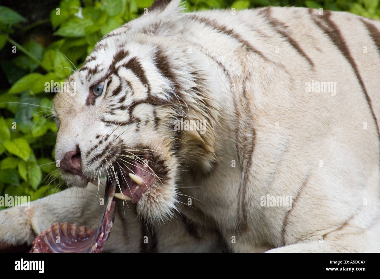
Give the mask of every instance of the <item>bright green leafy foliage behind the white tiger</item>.
M 84 0 L 81 5 L 79 0 L 62 0 L 50 13 L 55 41 L 46 47 L 32 39 L 17 43 L 13 38 L 18 32 L 38 23 L 27 25 L 20 14 L 0 6 L 0 50 L 8 57 L 0 65 L 9 84 L 0 89 L 0 195 L 29 195 L 35 200 L 62 184 L 54 161 L 54 93 L 46 92 L 45 84 L 64 81 L 102 36 L 138 17 L 152 2 Z M 184 5 L 189 11 L 306 6 L 350 11 L 380 20 L 379 0 L 188 0 Z

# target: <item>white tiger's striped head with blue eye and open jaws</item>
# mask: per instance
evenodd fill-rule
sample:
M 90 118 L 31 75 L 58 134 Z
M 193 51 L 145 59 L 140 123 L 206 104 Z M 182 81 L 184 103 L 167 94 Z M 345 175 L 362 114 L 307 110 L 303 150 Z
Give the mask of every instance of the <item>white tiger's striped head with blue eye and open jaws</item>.
M 185 170 L 207 173 L 216 160 L 208 95 L 217 85 L 188 51 L 178 5 L 155 2 L 103 37 L 54 98 L 55 159 L 68 185 L 112 177 L 116 196 L 152 221 L 173 214 Z

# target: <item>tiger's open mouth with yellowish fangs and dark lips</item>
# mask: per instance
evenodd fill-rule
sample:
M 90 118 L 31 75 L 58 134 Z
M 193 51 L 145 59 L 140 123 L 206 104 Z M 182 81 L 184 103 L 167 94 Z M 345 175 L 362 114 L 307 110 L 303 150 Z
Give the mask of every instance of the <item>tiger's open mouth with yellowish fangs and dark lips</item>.
M 115 197 L 137 203 L 156 178 L 152 156 L 142 153 L 137 159 L 122 160 L 117 165 L 110 173 L 117 183 Z

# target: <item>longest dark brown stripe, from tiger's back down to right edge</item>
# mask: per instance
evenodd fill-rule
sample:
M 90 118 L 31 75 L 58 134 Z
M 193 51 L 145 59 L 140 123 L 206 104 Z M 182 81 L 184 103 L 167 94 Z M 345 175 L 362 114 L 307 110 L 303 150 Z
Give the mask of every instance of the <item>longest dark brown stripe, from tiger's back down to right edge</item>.
M 371 99 L 369 98 L 366 87 L 364 86 L 363 79 L 360 76 L 358 66 L 356 65 L 353 57 L 351 56 L 350 50 L 348 49 L 347 44 L 346 44 L 342 34 L 340 33 L 340 30 L 334 24 L 334 22 L 332 22 L 332 20 L 330 19 L 331 12 L 330 11 L 324 11 L 323 15 L 315 16 L 315 15 L 313 15 L 313 9 L 309 9 L 309 13 L 310 13 L 313 21 L 315 22 L 315 24 L 317 24 L 318 27 L 320 29 L 322 29 L 323 32 L 325 32 L 329 36 L 330 40 L 336 45 L 336 47 L 344 55 L 344 57 L 347 59 L 348 63 L 350 63 L 352 69 L 354 70 L 356 78 L 358 79 L 359 84 L 361 86 L 361 89 L 363 90 L 364 95 L 366 97 L 367 105 L 369 106 L 370 112 L 372 114 L 372 118 L 375 121 L 378 140 L 380 141 L 379 127 L 378 127 L 377 119 L 376 119 L 376 116 L 374 113 L 374 109 L 372 108 Z M 320 17 L 320 19 L 318 19 L 318 17 Z M 322 24 L 322 22 L 325 25 Z

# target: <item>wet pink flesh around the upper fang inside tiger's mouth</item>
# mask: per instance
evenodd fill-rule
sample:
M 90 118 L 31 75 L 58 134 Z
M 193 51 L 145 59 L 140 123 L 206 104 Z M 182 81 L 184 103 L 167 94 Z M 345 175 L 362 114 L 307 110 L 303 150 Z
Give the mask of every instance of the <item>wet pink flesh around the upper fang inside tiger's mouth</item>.
M 135 162 L 134 172 L 135 174 L 129 173 L 127 185 L 125 185 L 126 189 L 123 190 L 123 194 L 132 197 L 132 203 L 137 203 L 142 194 L 153 184 L 155 176 L 147 164 L 138 162 Z

